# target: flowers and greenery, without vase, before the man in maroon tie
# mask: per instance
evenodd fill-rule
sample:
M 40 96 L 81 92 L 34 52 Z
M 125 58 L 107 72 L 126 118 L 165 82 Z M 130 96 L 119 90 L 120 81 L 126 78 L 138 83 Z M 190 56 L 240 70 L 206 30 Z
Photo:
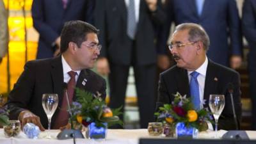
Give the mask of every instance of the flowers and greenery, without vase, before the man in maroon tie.
M 85 127 L 92 122 L 96 127 L 106 127 L 106 123 L 108 127 L 114 124 L 122 125 L 118 117 L 121 114 L 121 108 L 110 109 L 100 97 L 100 93 L 94 95 L 76 88 L 76 97 L 76 102 L 72 102 L 70 109 L 72 122 L 78 122 Z

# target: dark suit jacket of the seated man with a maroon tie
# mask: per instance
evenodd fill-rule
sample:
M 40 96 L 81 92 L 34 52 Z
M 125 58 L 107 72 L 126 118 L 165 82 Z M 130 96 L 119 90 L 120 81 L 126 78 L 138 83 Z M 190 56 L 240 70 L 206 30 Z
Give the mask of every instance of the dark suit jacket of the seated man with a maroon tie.
M 85 85 L 82 84 L 84 79 L 87 79 Z M 99 92 L 102 94 L 102 98 L 105 99 L 106 97 L 106 81 L 92 70 L 81 70 L 76 87 L 92 93 Z M 42 107 L 43 93 L 58 94 L 58 108 L 52 116 L 52 124 L 54 124 L 63 99 L 61 56 L 26 63 L 24 72 L 22 72 L 8 97 L 7 106 L 10 109 L 10 118 L 17 119 L 20 111 L 29 109 L 29 111 L 39 116 L 42 125 L 47 127 L 47 116 Z

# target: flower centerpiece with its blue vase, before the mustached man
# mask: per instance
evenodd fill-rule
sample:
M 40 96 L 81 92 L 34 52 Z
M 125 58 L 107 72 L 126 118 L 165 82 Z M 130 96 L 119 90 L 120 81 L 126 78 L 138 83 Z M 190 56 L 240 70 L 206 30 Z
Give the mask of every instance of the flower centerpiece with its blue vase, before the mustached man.
M 195 109 L 190 98 L 179 92 L 174 95 L 172 104 L 164 104 L 155 113 L 157 122 L 163 122 L 166 137 L 196 138 L 198 131 L 208 129 L 207 121 L 212 121 L 208 108 Z

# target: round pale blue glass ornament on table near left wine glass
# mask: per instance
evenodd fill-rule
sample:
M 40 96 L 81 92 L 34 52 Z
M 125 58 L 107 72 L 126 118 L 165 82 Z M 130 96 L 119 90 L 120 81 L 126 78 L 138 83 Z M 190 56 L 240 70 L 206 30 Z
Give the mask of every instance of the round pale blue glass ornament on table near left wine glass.
M 40 134 L 40 129 L 33 123 L 27 123 L 23 127 L 23 132 L 26 134 L 28 138 L 37 139 L 38 135 Z

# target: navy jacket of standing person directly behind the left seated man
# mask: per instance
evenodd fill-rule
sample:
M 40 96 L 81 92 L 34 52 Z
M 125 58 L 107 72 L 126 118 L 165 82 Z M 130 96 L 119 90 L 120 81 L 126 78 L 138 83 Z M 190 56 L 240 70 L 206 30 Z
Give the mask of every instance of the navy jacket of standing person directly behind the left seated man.
M 52 45 L 64 23 L 70 20 L 92 22 L 93 0 L 68 0 L 63 8 L 62 0 L 34 0 L 31 8 L 33 26 L 40 37 L 37 59 L 51 58 L 55 47 Z

